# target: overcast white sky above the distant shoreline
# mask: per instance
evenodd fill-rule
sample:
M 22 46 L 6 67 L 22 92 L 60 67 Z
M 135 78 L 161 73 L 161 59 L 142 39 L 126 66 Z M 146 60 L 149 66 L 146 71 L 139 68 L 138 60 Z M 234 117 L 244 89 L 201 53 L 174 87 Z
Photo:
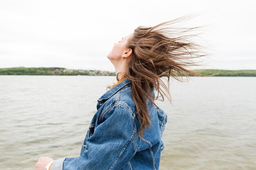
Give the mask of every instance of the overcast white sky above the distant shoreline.
M 198 12 L 185 24 L 211 25 L 201 37 L 214 56 L 202 68 L 256 69 L 256 10 L 249 0 L 1 0 L 0 68 L 115 71 L 107 55 L 122 37 Z

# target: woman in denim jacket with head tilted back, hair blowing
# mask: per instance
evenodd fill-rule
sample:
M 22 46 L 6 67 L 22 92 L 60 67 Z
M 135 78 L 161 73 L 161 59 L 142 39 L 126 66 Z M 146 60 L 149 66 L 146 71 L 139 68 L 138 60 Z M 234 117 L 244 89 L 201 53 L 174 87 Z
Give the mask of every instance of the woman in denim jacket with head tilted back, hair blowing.
M 201 75 L 186 69 L 197 65 L 191 58 L 204 56 L 198 45 L 188 40 L 193 35 L 180 35 L 189 29 L 159 29 L 185 18 L 153 27 L 139 26 L 114 44 L 108 59 L 115 67 L 117 83 L 98 99 L 80 156 L 56 160 L 40 157 L 36 170 L 159 169 L 167 116 L 155 104 L 158 95 L 155 98 L 154 91 L 163 97 L 161 85 L 171 102 L 161 77 L 168 77 L 169 84 L 170 76 L 180 80 L 182 75 Z

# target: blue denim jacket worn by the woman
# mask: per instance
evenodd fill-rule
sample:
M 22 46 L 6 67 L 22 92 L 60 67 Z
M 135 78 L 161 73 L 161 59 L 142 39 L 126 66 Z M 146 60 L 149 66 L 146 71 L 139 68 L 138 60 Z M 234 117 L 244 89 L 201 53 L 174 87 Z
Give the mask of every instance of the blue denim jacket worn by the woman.
M 151 125 L 141 139 L 135 135 L 141 120 L 132 99 L 130 80 L 126 78 L 112 87 L 98 99 L 80 156 L 56 159 L 51 170 L 159 170 L 167 116 L 148 97 L 146 102 Z

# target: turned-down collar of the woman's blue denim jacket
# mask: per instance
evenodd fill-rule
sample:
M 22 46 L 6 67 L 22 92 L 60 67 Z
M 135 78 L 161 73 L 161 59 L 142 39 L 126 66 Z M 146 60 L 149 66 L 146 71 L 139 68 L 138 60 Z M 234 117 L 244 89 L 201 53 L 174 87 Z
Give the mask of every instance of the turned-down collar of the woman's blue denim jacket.
M 106 93 L 104 93 L 97 101 L 98 103 L 103 103 L 105 100 L 110 98 L 112 95 L 117 93 L 121 88 L 123 88 L 125 85 L 130 84 L 130 79 L 126 78 L 123 81 L 119 82 L 117 85 L 112 87 L 110 90 L 108 90 Z

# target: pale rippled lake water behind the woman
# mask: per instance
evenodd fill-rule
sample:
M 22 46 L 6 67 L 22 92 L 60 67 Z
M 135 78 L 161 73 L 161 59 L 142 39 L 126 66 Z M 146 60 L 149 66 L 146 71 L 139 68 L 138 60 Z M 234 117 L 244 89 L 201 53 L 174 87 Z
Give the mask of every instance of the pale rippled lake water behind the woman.
M 115 76 L 0 76 L 0 167 L 78 157 L 97 99 Z M 256 77 L 170 83 L 160 170 L 256 170 Z

